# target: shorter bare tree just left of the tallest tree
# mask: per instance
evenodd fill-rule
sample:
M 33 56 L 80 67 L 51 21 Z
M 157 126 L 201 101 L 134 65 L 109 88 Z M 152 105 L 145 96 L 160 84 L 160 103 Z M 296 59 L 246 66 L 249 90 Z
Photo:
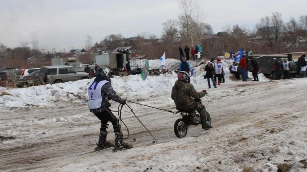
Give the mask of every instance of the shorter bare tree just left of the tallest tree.
M 166 20 L 162 23 L 162 39 L 174 41 L 177 38 L 177 21 L 176 20 Z

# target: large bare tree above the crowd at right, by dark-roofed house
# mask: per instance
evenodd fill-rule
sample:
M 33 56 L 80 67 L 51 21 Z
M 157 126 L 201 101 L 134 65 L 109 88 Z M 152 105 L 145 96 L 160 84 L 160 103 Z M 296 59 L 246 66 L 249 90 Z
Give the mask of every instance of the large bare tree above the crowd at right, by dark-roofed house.
M 284 29 L 281 13 L 274 12 L 272 16 L 261 18 L 260 23 L 256 24 L 258 34 L 266 40 L 268 46 L 275 53 L 278 53 L 281 46 L 282 33 Z

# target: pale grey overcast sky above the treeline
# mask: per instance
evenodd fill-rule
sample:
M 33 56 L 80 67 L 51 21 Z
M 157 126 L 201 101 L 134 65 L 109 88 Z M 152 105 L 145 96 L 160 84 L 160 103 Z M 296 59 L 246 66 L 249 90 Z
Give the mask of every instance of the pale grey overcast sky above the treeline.
M 253 29 L 272 12 L 307 15 L 307 0 L 199 0 L 215 33 L 226 24 Z M 177 0 L 0 0 L 0 43 L 23 46 L 35 38 L 39 49 L 81 48 L 86 35 L 93 41 L 120 33 L 133 37 L 148 32 L 161 35 L 161 23 L 177 19 Z

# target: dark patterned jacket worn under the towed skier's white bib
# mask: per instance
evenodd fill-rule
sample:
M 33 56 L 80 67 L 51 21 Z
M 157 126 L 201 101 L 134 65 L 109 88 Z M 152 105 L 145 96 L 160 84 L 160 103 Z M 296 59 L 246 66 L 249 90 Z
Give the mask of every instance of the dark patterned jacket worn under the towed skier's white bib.
M 98 109 L 90 109 L 89 112 L 91 113 L 99 113 L 103 111 L 107 111 L 110 107 L 109 100 L 113 100 L 118 103 L 123 103 L 124 100 L 120 98 L 118 95 L 116 95 L 115 91 L 113 90 L 110 82 L 105 83 L 101 88 L 101 96 L 102 96 L 102 102 L 101 107 Z

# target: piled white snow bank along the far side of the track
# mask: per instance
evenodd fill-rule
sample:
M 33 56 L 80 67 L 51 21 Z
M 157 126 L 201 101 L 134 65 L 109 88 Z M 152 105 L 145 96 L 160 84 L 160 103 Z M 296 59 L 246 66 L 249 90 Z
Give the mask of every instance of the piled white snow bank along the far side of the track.
M 205 71 L 200 71 L 199 69 L 205 67 L 204 64 L 200 62 L 189 61 L 191 68 L 194 68 L 195 75 L 191 77 L 191 83 L 195 88 L 200 90 L 208 88 L 207 79 L 204 79 Z M 160 60 L 149 60 L 150 67 L 159 67 Z M 179 65 L 180 60 L 176 59 L 166 59 L 166 65 L 170 68 L 176 69 Z M 225 61 L 224 71 L 226 85 L 230 83 L 235 83 L 230 76 L 228 67 L 230 61 Z M 249 72 L 251 76 L 251 73 Z M 130 75 L 119 77 L 115 76 L 111 79 L 112 86 L 117 94 L 124 99 L 135 100 L 148 100 L 150 98 L 164 96 L 165 94 L 170 95 L 171 88 L 174 82 L 177 80 L 175 73 L 169 76 L 148 76 L 148 78 L 143 81 L 140 75 Z M 55 103 L 70 103 L 70 102 L 87 102 L 87 87 L 93 79 L 78 80 L 75 82 L 59 83 L 53 85 L 42 85 L 34 86 L 29 88 L 20 89 L 2 89 L 2 96 L 0 96 L 0 106 L 9 108 L 21 108 L 25 106 L 40 106 L 40 107 L 51 107 L 55 106 Z M 268 81 L 262 74 L 259 75 L 259 81 Z M 223 96 L 225 92 L 219 92 L 215 90 L 216 95 Z

